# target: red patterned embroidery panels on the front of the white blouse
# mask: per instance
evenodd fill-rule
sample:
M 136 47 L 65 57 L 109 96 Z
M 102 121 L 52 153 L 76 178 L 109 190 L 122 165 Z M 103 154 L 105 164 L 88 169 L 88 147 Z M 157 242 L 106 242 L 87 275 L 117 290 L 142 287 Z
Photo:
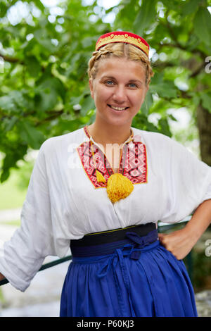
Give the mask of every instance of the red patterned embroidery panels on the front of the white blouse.
M 86 127 L 84 127 L 84 130 L 89 137 Z M 107 182 L 110 175 L 113 175 L 114 173 L 113 169 L 101 149 L 99 149 L 95 144 L 92 144 L 92 148 L 94 151 L 96 168 Z M 84 171 L 87 173 L 87 176 L 94 187 L 106 187 L 107 183 L 98 182 L 96 179 L 95 163 L 91 153 L 91 142 L 83 142 L 79 147 L 77 147 L 77 152 L 82 161 Z M 123 146 L 119 173 L 122 173 L 122 175 L 131 180 L 133 184 L 147 182 L 147 158 L 145 144 L 142 142 L 130 142 L 129 144 L 125 144 Z

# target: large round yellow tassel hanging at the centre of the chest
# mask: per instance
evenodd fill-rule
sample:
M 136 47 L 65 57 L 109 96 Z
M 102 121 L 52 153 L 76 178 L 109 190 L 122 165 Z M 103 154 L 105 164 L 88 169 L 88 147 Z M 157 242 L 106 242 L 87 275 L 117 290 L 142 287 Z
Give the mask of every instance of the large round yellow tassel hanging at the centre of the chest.
M 108 178 L 107 192 L 113 203 L 127 198 L 134 189 L 133 183 L 121 173 L 115 173 Z

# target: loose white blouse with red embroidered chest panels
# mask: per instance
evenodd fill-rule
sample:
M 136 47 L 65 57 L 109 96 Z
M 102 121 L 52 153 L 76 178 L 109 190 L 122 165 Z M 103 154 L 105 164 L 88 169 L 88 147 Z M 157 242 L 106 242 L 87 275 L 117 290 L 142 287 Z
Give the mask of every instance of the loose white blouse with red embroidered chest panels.
M 41 145 L 21 226 L 0 251 L 0 272 L 13 287 L 25 291 L 44 258 L 65 256 L 71 239 L 158 220 L 177 223 L 211 199 L 211 167 L 165 135 L 132 131 L 120 170 L 134 190 L 114 204 L 106 184 L 96 181 L 94 164 L 106 180 L 113 170 L 96 143 L 94 163 L 85 127 Z

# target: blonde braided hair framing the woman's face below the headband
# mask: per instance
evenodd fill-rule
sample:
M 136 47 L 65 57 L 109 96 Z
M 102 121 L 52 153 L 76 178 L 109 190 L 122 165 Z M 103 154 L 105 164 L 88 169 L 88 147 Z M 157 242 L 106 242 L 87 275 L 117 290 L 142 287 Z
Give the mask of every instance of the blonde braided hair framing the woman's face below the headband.
M 151 77 L 153 77 L 154 73 L 146 54 L 136 46 L 126 44 L 124 42 L 110 43 L 101 47 L 98 51 L 93 52 L 92 57 L 89 60 L 89 68 L 87 70 L 89 78 L 92 78 L 93 80 L 95 79 L 98 71 L 98 64 L 100 62 L 99 60 L 104 60 L 106 58 L 110 58 L 111 56 L 127 58 L 129 61 L 140 62 L 143 68 L 146 69 L 146 85 L 151 82 Z

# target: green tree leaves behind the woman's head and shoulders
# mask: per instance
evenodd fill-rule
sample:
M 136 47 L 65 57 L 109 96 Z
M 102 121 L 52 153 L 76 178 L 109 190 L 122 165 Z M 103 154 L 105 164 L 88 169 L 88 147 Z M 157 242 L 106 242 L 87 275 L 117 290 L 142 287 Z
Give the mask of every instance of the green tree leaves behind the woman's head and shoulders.
M 20 13 L 20 6 L 28 14 L 11 22 L 11 12 Z M 39 149 L 45 139 L 94 120 L 87 64 L 103 33 L 138 33 L 154 53 L 155 76 L 134 126 L 171 137 L 169 108 L 187 107 L 194 117 L 202 103 L 210 111 L 207 6 L 210 0 L 122 0 L 105 11 L 98 1 L 87 6 L 71 0 L 58 2 L 55 14 L 41 1 L 0 1 L 0 181 L 18 168 L 29 147 Z M 113 23 L 105 23 L 109 13 L 115 14 Z M 152 113 L 159 113 L 158 125 L 149 122 Z

